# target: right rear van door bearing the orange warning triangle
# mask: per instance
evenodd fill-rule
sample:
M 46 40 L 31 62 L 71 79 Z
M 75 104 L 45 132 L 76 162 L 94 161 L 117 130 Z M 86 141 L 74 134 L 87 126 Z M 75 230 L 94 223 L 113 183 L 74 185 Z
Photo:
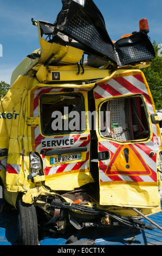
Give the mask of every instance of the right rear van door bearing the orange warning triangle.
M 100 204 L 154 208 L 160 205 L 157 154 L 160 137 L 150 90 L 140 71 L 123 71 L 94 89 Z

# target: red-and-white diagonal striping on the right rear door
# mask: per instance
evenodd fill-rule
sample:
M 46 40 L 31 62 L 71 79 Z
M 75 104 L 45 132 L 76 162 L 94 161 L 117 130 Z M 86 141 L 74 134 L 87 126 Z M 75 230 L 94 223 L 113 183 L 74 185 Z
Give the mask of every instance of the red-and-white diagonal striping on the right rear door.
M 142 94 L 146 99 L 146 104 L 148 112 L 150 114 L 154 113 L 154 108 L 148 93 L 147 87 L 145 85 L 144 79 L 141 74 L 124 76 L 124 77 L 115 77 L 109 80 L 106 83 L 98 84 L 94 89 L 95 99 L 104 99 L 113 96 L 122 96 L 122 95 L 131 95 L 131 94 Z M 156 168 L 156 155 L 159 150 L 159 147 L 155 147 L 155 142 L 158 141 L 157 137 L 157 126 L 152 124 L 153 137 L 151 141 L 147 143 L 135 143 L 133 144 L 135 149 L 139 154 L 145 159 L 148 167 L 151 170 L 151 175 L 106 175 L 105 171 L 110 160 L 100 161 L 100 180 L 103 182 L 107 181 L 137 181 L 137 182 L 156 182 L 157 181 L 157 168 Z M 157 143 L 158 144 L 158 143 Z M 99 151 L 109 150 L 111 152 L 111 159 L 116 154 L 120 144 L 114 143 L 112 141 L 100 141 L 99 142 Z M 154 157 L 150 157 L 150 151 L 154 151 Z M 105 164 L 105 162 L 107 162 Z

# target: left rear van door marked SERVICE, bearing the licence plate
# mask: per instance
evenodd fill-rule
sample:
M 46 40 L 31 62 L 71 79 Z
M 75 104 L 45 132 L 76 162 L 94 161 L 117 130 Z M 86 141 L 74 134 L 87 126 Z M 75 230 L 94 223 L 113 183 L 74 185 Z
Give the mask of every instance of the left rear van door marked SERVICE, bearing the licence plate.
M 38 121 L 29 127 L 32 151 L 41 156 L 45 184 L 53 190 L 73 190 L 93 182 L 87 91 L 42 86 L 30 92 L 30 117 Z

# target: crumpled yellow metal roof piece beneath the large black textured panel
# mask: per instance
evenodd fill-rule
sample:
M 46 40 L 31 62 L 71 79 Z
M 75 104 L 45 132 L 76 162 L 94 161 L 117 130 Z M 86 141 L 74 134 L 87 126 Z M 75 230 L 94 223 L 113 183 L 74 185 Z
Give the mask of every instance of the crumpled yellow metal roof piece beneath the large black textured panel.
M 47 62 L 48 59 L 48 65 L 50 65 L 51 62 L 55 62 L 55 64 L 60 63 L 69 65 L 80 62 L 82 58 L 84 51 L 72 46 L 63 46 L 60 44 L 56 44 L 55 42 L 48 42 L 46 39 L 41 38 L 39 23 L 37 23 L 37 27 L 41 48 L 32 52 L 30 54 L 31 58 L 25 58 L 17 66 L 11 76 L 11 85 L 17 80 L 19 76 L 29 74 L 29 71 L 35 68 L 37 64 L 44 64 Z M 36 57 L 32 58 L 32 55 L 34 54 Z M 43 68 L 42 66 L 40 72 L 38 72 L 38 77 L 40 78 L 41 82 L 43 81 L 42 77 L 46 77 L 46 74 L 44 74 L 44 72 L 46 72 L 46 68 Z

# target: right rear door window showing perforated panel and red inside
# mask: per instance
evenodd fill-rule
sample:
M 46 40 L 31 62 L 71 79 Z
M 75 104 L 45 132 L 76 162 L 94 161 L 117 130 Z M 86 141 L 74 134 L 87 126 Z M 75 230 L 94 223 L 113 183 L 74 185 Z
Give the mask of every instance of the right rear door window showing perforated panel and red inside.
M 150 137 L 148 114 L 141 96 L 118 97 L 101 103 L 100 132 L 118 141 Z

